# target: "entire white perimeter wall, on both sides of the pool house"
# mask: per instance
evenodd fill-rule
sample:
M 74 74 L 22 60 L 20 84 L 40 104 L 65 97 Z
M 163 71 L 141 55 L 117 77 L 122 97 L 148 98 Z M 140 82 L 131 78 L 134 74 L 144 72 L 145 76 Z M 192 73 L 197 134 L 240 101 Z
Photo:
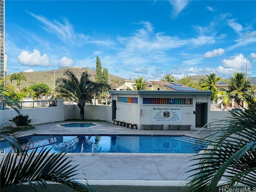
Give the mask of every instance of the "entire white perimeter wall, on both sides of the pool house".
M 80 119 L 78 106 L 76 104 L 64 105 L 62 99 L 58 100 L 58 106 L 56 107 L 26 108 L 22 109 L 21 114 L 28 114 L 34 125 Z M 0 124 L 3 126 L 10 125 L 9 119 L 16 115 L 17 113 L 13 109 L 0 110 Z M 228 111 L 211 110 L 208 114 L 208 122 L 216 122 L 230 116 Z M 112 122 L 112 107 L 109 105 L 86 105 L 84 107 L 84 118 Z

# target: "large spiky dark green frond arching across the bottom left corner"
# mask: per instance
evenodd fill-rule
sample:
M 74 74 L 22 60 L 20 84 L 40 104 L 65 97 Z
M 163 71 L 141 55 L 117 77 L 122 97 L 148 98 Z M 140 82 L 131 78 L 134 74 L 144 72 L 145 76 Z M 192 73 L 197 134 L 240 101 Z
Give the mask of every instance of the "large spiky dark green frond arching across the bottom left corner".
M 74 178 L 78 172 L 78 165 L 70 165 L 71 160 L 64 153 L 52 153 L 51 148 L 37 149 L 32 153 L 26 151 L 20 158 L 9 152 L 0 166 L 0 186 L 14 186 L 28 183 L 32 189 L 38 184 L 46 188 L 47 182 L 56 182 L 73 188 L 77 192 L 95 192 L 87 180 L 86 184 L 76 182 Z

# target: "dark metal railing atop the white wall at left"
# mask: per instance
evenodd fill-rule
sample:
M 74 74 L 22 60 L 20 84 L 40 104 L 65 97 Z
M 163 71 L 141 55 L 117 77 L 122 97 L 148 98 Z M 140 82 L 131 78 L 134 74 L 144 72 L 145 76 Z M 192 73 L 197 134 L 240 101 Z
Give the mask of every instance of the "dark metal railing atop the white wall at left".
M 36 108 L 36 107 L 54 107 L 57 106 L 57 100 L 34 100 L 34 101 L 19 101 L 17 102 L 20 108 Z M 17 106 L 16 103 L 13 103 Z M 0 102 L 0 110 L 12 109 L 5 102 Z

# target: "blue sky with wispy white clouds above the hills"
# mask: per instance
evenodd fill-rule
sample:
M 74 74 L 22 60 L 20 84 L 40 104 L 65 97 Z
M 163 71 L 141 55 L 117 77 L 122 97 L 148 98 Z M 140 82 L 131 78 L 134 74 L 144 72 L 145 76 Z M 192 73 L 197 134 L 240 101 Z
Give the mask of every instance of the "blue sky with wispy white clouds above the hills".
M 256 1 L 5 2 L 7 74 L 96 68 L 160 80 L 256 76 Z

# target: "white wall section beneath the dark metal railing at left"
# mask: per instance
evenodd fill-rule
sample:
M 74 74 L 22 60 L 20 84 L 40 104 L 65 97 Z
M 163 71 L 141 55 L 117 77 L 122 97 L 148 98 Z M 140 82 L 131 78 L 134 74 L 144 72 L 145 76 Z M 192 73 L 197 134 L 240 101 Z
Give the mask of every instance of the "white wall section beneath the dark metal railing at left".
M 32 125 L 64 121 L 64 105 L 63 100 L 58 100 L 58 106 L 56 107 L 38 107 L 38 108 L 25 108 L 22 109 L 21 114 L 29 116 L 32 119 Z M 0 110 L 0 124 L 2 126 L 8 126 L 12 124 L 9 119 L 12 119 L 18 115 L 18 113 L 13 110 Z

